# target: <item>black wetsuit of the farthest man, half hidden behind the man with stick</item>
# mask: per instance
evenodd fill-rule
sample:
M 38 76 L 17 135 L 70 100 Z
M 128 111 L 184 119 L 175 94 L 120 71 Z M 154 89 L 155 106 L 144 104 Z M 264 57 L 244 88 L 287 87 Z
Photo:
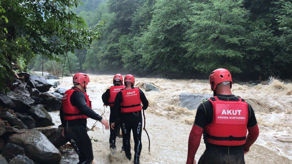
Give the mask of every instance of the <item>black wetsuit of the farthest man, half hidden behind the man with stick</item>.
M 114 86 L 120 86 L 119 84 L 114 84 Z M 109 94 L 110 94 L 110 91 L 109 89 L 107 89 L 105 91 L 104 94 L 102 94 L 101 98 L 102 98 L 102 102 L 105 104 L 105 105 L 109 105 Z M 110 110 L 110 115 L 109 115 L 109 122 L 112 121 L 112 110 L 113 110 L 113 107 L 109 107 L 109 110 Z M 115 125 L 117 126 L 114 126 L 114 130 L 112 130 L 112 128 L 109 128 L 110 130 L 110 135 L 109 135 L 109 148 L 112 148 L 112 149 L 115 149 L 116 148 L 116 138 L 117 136 L 120 135 L 120 125 L 119 125 L 119 118 L 117 118 L 115 120 Z

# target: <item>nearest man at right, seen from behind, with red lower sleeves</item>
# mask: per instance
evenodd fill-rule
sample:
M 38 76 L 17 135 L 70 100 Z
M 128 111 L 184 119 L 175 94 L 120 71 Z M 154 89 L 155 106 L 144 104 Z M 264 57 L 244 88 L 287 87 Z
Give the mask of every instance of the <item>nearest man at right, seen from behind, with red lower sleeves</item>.
M 197 109 L 186 163 L 196 163 L 194 157 L 204 132 L 206 150 L 198 163 L 244 164 L 244 154 L 259 135 L 253 108 L 231 93 L 232 78 L 227 69 L 214 70 L 209 81 L 214 97 L 203 101 Z

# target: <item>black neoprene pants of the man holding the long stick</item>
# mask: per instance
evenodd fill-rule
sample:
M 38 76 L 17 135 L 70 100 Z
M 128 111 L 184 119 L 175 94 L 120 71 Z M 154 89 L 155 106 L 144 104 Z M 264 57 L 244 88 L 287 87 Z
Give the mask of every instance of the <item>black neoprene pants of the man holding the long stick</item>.
M 142 150 L 142 142 L 141 142 L 141 135 L 142 135 L 142 112 L 135 112 L 135 113 L 121 113 L 120 115 L 120 126 L 123 134 L 123 147 L 126 153 L 126 156 L 129 160 L 131 160 L 131 130 L 133 131 L 133 139 L 135 142 L 134 150 L 134 162 L 139 162 L 141 150 Z

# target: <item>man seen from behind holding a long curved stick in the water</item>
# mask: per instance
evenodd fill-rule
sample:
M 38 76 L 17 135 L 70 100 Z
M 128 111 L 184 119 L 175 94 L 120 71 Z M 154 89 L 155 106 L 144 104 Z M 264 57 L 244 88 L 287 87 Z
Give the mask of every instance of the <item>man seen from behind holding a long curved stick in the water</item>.
M 133 75 L 126 75 L 124 78 L 125 89 L 118 92 L 114 100 L 114 108 L 111 120 L 111 128 L 114 129 L 115 119 L 120 112 L 120 126 L 123 135 L 123 147 L 126 157 L 131 161 L 131 130 L 133 131 L 134 146 L 134 164 L 139 164 L 140 154 L 142 150 L 141 134 L 142 134 L 142 109 L 148 107 L 148 100 L 143 91 L 134 87 L 135 78 Z M 141 105 L 142 102 L 142 105 Z

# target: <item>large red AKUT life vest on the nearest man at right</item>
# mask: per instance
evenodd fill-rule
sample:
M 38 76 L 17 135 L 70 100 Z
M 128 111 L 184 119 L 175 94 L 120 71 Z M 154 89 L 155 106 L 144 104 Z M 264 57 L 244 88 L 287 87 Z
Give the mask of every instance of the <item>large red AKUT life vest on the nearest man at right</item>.
M 210 98 L 213 105 L 213 121 L 205 127 L 204 141 L 215 145 L 239 146 L 246 142 L 248 104 L 239 101 L 223 101 Z

